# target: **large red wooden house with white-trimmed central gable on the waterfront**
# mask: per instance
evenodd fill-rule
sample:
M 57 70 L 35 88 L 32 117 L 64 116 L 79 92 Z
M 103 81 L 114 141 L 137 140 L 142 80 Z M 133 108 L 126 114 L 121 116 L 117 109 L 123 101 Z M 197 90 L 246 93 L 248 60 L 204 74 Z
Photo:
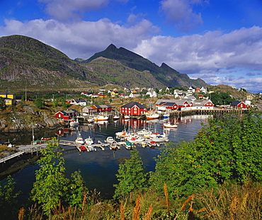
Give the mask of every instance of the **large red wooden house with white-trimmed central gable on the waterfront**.
M 120 107 L 120 113 L 123 115 L 139 116 L 147 112 L 147 107 L 137 103 L 131 102 Z

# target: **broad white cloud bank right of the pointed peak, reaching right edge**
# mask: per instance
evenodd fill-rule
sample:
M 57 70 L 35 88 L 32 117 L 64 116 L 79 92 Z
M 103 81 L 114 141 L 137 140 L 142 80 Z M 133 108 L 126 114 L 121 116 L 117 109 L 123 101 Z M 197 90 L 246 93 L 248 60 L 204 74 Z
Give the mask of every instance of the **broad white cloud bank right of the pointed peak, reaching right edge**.
M 142 40 L 134 51 L 188 74 L 235 67 L 261 69 L 262 28 L 241 28 L 227 34 L 214 31 L 183 37 L 154 36 Z

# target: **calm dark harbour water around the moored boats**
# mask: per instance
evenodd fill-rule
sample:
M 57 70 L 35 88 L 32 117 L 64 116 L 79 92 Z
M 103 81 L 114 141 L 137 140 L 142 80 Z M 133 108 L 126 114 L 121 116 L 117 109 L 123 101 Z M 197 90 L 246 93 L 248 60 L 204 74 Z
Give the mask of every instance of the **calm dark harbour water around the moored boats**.
M 195 138 L 198 130 L 201 128 L 201 122 L 206 122 L 207 115 L 193 115 L 191 117 L 181 117 L 178 122 L 177 129 L 167 130 L 170 141 L 178 142 L 181 139 L 190 141 Z M 149 122 L 141 120 L 118 120 L 117 122 L 101 122 L 93 125 L 81 125 L 79 130 L 81 136 L 85 139 L 91 137 L 97 141 L 104 142 L 106 137 L 115 137 L 115 132 L 120 132 L 124 128 L 130 127 L 135 129 L 142 129 L 149 127 L 152 131 L 157 131 L 160 134 L 163 133 L 163 120 L 151 120 Z M 52 136 L 62 134 L 59 139 L 74 141 L 76 139 L 76 132 L 69 131 L 69 129 L 59 129 L 52 133 Z M 51 137 L 52 137 L 51 136 Z M 40 138 L 40 137 L 39 137 Z M 161 145 L 164 146 L 164 145 Z M 72 149 L 67 154 L 64 154 L 65 167 L 67 169 L 66 175 L 70 176 L 75 170 L 81 170 L 81 175 L 86 181 L 86 186 L 89 190 L 96 189 L 101 192 L 101 195 L 106 198 L 110 198 L 113 195 L 115 188 L 113 184 L 118 183 L 115 173 L 118 172 L 118 159 L 130 156 L 130 151 L 127 151 L 123 146 L 122 149 L 117 151 L 110 151 L 105 148 L 105 151 L 98 149 L 94 152 L 79 152 L 74 151 L 74 146 L 63 146 L 65 150 Z M 153 171 L 155 166 L 154 158 L 159 154 L 159 149 L 151 149 L 149 147 L 142 148 L 137 146 L 139 156 L 142 158 L 144 166 L 148 171 Z M 28 197 L 30 190 L 32 189 L 33 182 L 35 181 L 35 170 L 38 169 L 37 165 L 25 167 L 20 173 L 13 175 L 16 187 L 18 190 L 23 191 L 21 199 Z

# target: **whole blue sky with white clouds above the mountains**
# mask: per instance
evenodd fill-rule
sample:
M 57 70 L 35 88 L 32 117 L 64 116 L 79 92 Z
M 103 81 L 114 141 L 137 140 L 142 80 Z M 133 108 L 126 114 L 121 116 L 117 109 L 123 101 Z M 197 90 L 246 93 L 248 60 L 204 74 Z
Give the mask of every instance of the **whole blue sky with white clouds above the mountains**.
M 0 37 L 69 58 L 111 43 L 191 79 L 262 93 L 262 0 L 0 0 Z

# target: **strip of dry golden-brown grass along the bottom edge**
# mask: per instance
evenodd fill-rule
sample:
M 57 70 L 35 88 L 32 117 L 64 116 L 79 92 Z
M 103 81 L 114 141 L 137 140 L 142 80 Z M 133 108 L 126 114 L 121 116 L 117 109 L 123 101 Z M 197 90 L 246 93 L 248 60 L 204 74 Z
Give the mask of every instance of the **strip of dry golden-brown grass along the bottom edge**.
M 130 196 L 121 200 L 99 199 L 99 193 L 93 192 L 91 202 L 83 208 L 59 206 L 53 210 L 52 219 L 69 220 L 261 220 L 261 183 L 247 183 L 246 185 L 224 184 L 217 189 L 200 190 L 185 200 L 171 199 L 167 194 L 166 185 L 164 195 L 148 191 L 144 194 L 132 192 Z M 169 202 L 168 202 L 169 201 Z M 25 214 L 21 208 L 18 219 L 45 219 L 38 205 L 30 207 Z

